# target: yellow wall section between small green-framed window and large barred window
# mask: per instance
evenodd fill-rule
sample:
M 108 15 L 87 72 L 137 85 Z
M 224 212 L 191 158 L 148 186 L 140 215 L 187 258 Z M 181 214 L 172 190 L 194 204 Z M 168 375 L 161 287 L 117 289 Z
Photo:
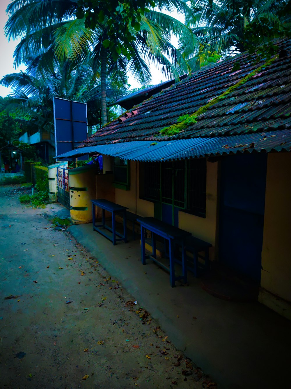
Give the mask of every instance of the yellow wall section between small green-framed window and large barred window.
M 139 163 L 130 163 L 130 190 L 115 188 L 115 202 L 139 216 L 154 216 L 154 203 L 139 198 Z

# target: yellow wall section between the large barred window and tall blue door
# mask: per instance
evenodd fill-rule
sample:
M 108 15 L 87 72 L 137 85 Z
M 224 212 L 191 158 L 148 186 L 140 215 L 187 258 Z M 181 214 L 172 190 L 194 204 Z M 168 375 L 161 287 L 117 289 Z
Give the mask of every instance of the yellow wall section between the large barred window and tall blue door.
M 206 217 L 199 217 L 179 211 L 179 228 L 191 232 L 196 237 L 213 245 L 209 250 L 210 259 L 215 259 L 215 237 L 217 228 L 217 179 L 218 163 L 206 165 Z

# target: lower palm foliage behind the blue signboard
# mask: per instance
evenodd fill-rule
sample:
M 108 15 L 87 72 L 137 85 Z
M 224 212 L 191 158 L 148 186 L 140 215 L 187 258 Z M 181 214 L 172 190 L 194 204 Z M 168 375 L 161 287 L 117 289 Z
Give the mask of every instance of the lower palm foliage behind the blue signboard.
M 13 89 L 10 105 L 23 112 L 23 128 L 54 133 L 54 96 L 87 103 L 88 125 L 100 123 L 99 79 L 98 72 L 92 70 L 92 59 L 88 58 L 79 67 L 72 67 L 68 62 L 59 64 L 55 72 L 45 78 L 25 72 L 7 74 L 0 84 Z M 107 81 L 108 104 L 124 95 L 125 89 L 117 86 L 113 80 Z

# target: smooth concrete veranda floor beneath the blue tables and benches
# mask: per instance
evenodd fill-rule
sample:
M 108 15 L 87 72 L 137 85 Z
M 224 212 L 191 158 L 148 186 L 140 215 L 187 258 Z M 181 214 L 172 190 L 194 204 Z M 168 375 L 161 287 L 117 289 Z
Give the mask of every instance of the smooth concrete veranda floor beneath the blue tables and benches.
M 289 387 L 287 319 L 260 303 L 219 300 L 201 289 L 191 273 L 189 286 L 171 288 L 168 273 L 152 261 L 142 266 L 139 240 L 113 246 L 91 224 L 73 225 L 69 231 L 219 388 Z

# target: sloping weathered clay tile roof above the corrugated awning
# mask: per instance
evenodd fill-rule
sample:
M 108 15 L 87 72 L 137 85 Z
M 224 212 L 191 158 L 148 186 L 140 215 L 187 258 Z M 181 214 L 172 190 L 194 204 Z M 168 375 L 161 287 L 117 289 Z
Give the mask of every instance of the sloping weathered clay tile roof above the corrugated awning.
M 193 114 L 230 86 L 265 63 L 253 65 L 247 54 L 240 54 L 212 67 L 204 67 L 144 101 L 131 117 L 118 119 L 98 130 L 83 142 L 84 146 L 137 140 L 154 142 L 204 137 L 262 133 L 291 129 L 291 40 L 279 42 L 288 56 L 277 58 L 258 74 L 249 78 L 204 114 L 197 123 L 172 137 L 159 134 L 165 126 L 177 123 L 179 116 Z M 234 62 L 240 69 L 232 71 Z

